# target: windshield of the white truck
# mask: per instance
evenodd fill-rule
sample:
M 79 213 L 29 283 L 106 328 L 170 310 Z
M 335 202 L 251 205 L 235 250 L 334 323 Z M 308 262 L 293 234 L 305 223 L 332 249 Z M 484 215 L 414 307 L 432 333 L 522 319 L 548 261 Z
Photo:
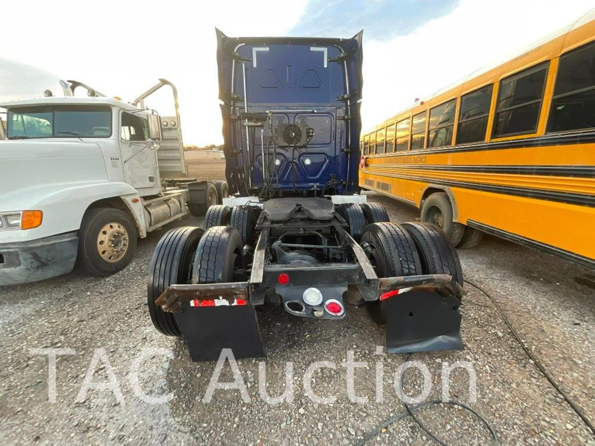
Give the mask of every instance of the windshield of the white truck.
M 108 138 L 111 108 L 99 105 L 57 105 L 12 108 L 8 111 L 8 139 Z

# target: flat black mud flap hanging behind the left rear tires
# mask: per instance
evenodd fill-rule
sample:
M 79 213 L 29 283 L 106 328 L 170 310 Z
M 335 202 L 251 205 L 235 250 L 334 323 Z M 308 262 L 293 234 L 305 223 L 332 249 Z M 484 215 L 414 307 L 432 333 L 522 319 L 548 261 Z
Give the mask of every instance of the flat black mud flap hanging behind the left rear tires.
M 252 305 L 184 307 L 174 317 L 195 362 L 216 361 L 223 348 L 236 359 L 265 356 Z

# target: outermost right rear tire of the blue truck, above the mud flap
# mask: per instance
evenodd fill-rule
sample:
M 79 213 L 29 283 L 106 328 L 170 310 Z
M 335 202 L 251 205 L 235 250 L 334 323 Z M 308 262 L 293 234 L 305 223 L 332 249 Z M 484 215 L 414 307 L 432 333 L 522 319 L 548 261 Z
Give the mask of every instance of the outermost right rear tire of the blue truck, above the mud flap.
M 450 274 L 463 285 L 461 261 L 456 249 L 446 234 L 437 226 L 428 223 L 403 223 L 411 235 L 421 260 L 421 274 Z

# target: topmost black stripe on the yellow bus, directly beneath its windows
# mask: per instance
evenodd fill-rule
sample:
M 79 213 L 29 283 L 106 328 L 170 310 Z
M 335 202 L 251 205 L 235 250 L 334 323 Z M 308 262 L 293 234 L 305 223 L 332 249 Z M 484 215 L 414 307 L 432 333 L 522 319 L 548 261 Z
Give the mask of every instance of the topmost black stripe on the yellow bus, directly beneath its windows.
M 595 132 L 572 133 L 563 135 L 538 136 L 533 138 L 512 139 L 506 141 L 497 141 L 490 143 L 477 143 L 469 145 L 437 147 L 436 149 L 413 149 L 402 150 L 393 153 L 379 153 L 380 156 L 386 155 L 409 155 L 423 156 L 429 153 L 456 153 L 456 152 L 477 152 L 480 150 L 503 150 L 518 149 L 520 147 L 540 147 L 540 146 L 562 146 L 565 144 L 588 144 L 595 143 Z M 374 156 L 374 155 L 371 155 Z M 378 158 L 380 158 L 380 156 Z

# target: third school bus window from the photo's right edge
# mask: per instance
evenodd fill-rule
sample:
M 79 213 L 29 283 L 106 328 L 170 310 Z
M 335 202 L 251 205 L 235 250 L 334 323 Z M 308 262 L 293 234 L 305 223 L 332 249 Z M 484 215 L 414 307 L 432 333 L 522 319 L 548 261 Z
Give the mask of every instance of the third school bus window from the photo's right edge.
M 493 89 L 493 84 L 489 84 L 461 97 L 459 128 L 456 131 L 457 144 L 486 140 L 487 118 L 490 114 Z

